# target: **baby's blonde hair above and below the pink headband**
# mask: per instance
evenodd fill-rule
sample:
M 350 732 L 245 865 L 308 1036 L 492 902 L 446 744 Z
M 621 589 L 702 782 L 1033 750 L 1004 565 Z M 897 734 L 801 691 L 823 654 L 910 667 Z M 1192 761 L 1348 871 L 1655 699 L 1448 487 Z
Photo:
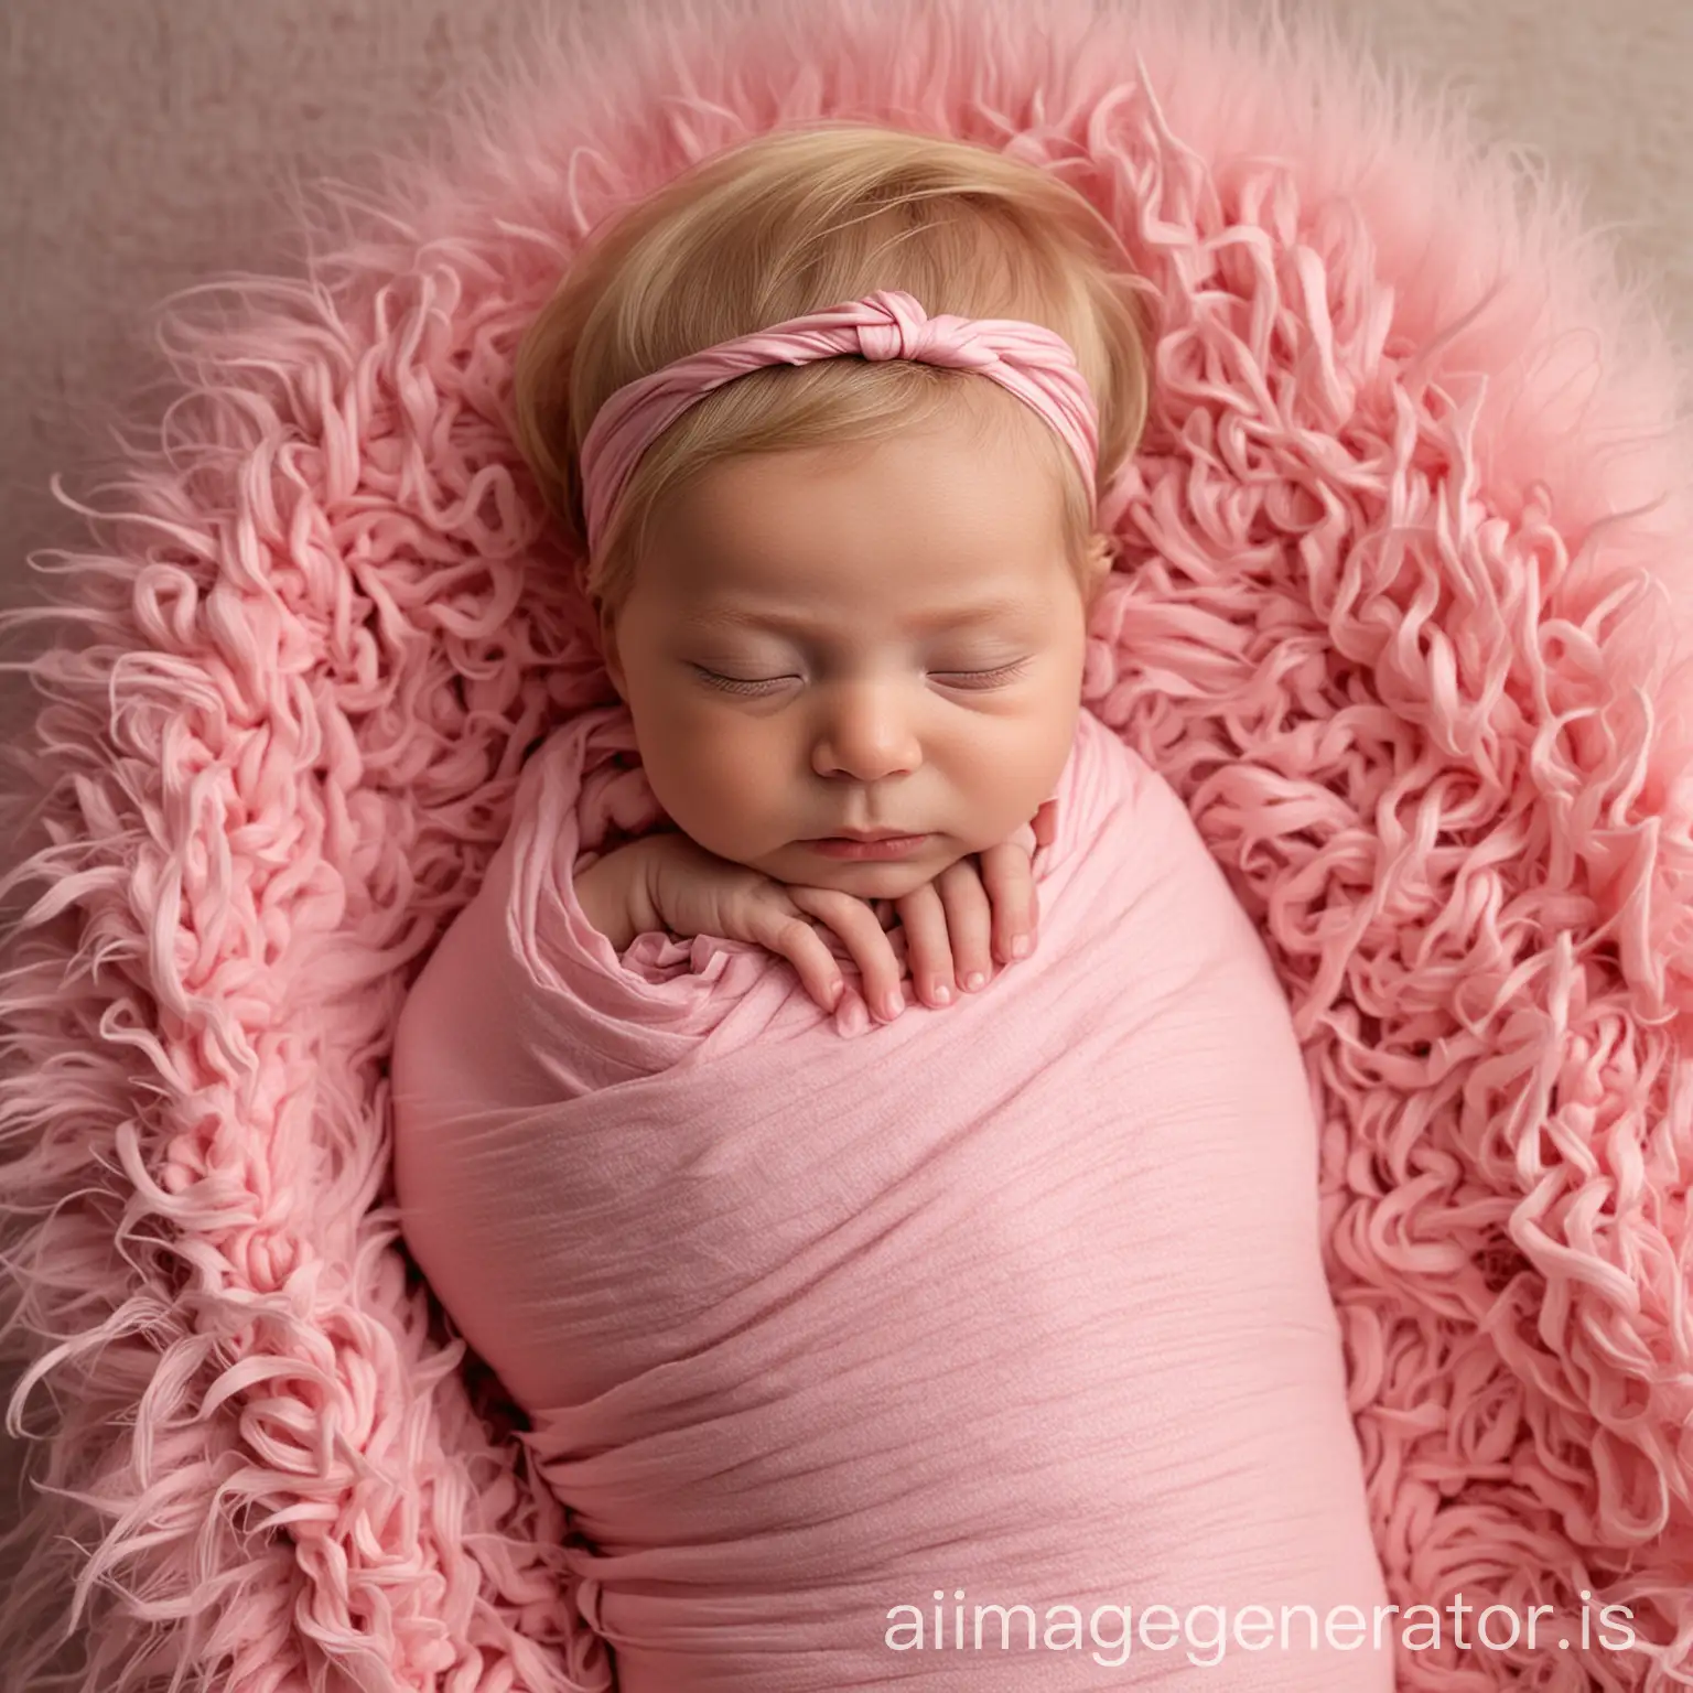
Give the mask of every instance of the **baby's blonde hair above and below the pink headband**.
M 1144 427 L 1144 286 L 1109 222 L 1033 164 L 872 124 L 782 129 L 703 161 L 589 242 L 518 347 L 515 433 L 586 557 L 581 444 L 625 383 L 716 342 L 902 288 L 931 317 L 1023 318 L 1063 335 L 1099 406 L 1104 486 Z M 907 359 L 819 359 L 726 383 L 643 454 L 587 560 L 584 591 L 615 615 L 653 513 L 713 462 L 887 440 L 960 396 L 1001 430 L 1026 410 L 997 383 Z M 1063 477 L 1067 555 L 1084 576 L 1109 542 L 1092 533 L 1095 491 L 1056 432 L 1033 413 L 1028 422 Z

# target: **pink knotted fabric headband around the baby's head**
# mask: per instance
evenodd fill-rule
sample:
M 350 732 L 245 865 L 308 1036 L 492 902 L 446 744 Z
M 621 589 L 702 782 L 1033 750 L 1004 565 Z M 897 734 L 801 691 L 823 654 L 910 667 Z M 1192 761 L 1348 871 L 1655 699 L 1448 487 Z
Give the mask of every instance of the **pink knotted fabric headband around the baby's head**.
M 914 359 L 990 376 L 1051 423 L 1094 493 L 1099 413 L 1075 352 L 1062 335 L 1017 318 L 953 313 L 931 318 L 911 295 L 884 288 L 863 300 L 718 342 L 620 388 L 599 408 L 582 442 L 589 552 L 604 535 L 640 455 L 691 405 L 762 366 L 811 364 L 841 354 Z

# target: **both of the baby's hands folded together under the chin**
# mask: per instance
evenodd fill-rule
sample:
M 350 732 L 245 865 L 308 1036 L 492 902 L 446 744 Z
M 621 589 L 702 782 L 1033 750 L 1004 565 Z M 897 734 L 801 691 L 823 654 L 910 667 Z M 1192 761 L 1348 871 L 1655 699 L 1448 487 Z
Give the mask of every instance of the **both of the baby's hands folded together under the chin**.
M 1026 935 L 1033 950 L 1036 907 L 1029 860 L 1050 840 L 1048 801 L 1034 816 L 1033 833 L 1019 830 L 1009 841 L 979 855 L 980 872 L 972 860 L 962 858 L 933 882 L 894 902 L 906 926 L 906 962 L 929 1004 L 950 1002 L 957 973 L 970 989 L 982 985 L 972 982 L 972 975 L 987 980 L 992 970 L 992 918 L 999 919 L 997 951 L 1002 963 L 1014 957 L 1016 935 Z M 828 1011 L 845 984 L 835 955 L 808 921 L 816 919 L 828 924 L 852 953 L 863 977 L 865 1004 L 884 1021 L 904 1009 L 899 957 L 872 906 L 857 894 L 777 882 L 760 870 L 720 858 L 679 833 L 650 835 L 623 848 L 623 853 L 637 867 L 633 933 L 662 926 L 676 935 L 721 935 L 764 946 L 787 958 L 806 992 Z

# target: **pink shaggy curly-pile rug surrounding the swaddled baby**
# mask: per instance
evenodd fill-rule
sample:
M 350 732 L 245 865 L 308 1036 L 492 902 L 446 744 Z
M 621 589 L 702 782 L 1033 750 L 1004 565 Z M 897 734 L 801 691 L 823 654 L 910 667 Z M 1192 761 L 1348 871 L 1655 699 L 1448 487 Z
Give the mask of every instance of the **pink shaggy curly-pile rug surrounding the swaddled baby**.
M 1407 1690 L 1693 1685 L 1693 515 L 1569 201 L 1192 7 L 694 0 L 483 73 L 174 300 L 61 557 L 0 979 L 32 1688 L 593 1690 L 567 1524 L 396 1244 L 384 1060 L 525 752 L 611 699 L 506 428 L 582 234 L 818 113 L 1034 159 L 1163 301 L 1087 704 L 1285 982 L 1392 1598 L 1625 1605 Z M 22 1544 L 22 1542 L 20 1542 Z M 1449 1612 L 1448 1612 L 1449 1615 Z M 1502 1632 L 1502 1630 L 1500 1630 Z

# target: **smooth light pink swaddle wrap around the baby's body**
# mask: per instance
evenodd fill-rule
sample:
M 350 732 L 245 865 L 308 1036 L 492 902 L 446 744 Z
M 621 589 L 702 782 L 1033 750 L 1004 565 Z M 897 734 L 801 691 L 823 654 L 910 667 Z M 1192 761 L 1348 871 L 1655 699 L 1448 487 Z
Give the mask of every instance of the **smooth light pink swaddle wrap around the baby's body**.
M 884 1026 L 615 955 L 572 874 L 628 745 L 537 752 L 393 1058 L 408 1246 L 625 1693 L 1390 1688 L 1307 1080 L 1173 791 L 1084 711 L 1034 957 Z

